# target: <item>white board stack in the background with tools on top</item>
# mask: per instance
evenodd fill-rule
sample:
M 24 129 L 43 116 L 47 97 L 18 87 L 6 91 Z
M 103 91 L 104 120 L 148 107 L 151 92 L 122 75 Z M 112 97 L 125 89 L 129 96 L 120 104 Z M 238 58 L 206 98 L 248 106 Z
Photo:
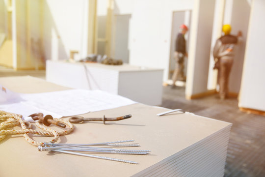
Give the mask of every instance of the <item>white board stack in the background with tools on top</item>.
M 119 94 L 140 103 L 161 105 L 162 69 L 101 63 L 69 62 L 46 63 L 46 80 L 75 89 L 100 89 Z

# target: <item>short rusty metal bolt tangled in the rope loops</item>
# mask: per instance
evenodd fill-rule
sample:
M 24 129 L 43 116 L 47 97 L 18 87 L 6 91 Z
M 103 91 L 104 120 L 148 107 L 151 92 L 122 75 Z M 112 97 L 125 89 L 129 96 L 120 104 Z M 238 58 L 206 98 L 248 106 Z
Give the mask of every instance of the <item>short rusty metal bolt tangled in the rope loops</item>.
M 42 113 L 35 113 L 32 114 L 28 117 L 31 117 L 33 120 L 41 120 L 43 122 L 44 125 L 49 126 L 51 124 L 57 125 L 59 127 L 65 128 L 66 125 L 62 122 L 53 120 L 53 117 L 51 115 L 46 115 L 45 117 L 43 117 L 44 115 Z

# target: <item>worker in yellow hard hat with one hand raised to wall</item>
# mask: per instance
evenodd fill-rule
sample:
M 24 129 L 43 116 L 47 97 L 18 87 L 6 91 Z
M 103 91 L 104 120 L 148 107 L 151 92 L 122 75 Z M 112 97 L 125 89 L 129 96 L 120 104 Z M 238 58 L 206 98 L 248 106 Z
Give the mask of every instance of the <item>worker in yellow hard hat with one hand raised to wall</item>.
M 229 74 L 235 56 L 235 46 L 238 40 L 241 40 L 242 32 L 238 31 L 237 36 L 231 35 L 231 26 L 228 24 L 223 26 L 222 31 L 224 35 L 216 40 L 213 48 L 213 69 L 218 69 L 219 95 L 220 99 L 225 99 L 228 97 Z

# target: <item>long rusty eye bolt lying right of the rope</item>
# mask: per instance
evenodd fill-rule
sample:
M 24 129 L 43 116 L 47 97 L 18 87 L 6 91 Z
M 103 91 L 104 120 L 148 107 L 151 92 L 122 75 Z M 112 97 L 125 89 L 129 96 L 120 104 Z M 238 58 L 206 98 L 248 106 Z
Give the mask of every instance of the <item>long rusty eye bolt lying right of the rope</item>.
M 103 121 L 103 123 L 105 124 L 105 121 L 116 121 L 116 120 L 123 120 L 126 118 L 132 118 L 132 115 L 126 115 L 126 116 L 121 116 L 117 118 L 106 118 L 105 115 L 103 116 L 103 118 L 84 118 L 81 116 L 74 116 L 74 117 L 69 118 L 69 121 L 71 123 L 80 123 L 83 121 Z

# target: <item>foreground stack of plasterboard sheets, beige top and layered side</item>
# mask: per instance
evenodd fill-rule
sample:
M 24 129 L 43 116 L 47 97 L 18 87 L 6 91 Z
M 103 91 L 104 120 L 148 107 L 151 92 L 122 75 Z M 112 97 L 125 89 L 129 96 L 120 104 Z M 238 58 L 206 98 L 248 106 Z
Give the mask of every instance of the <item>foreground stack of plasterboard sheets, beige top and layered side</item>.
M 1 77 L 0 84 L 20 93 L 68 89 L 26 76 Z M 78 155 L 39 152 L 19 135 L 0 142 L 0 157 L 4 159 L 0 160 L 0 176 L 28 177 L 41 172 L 41 176 L 52 174 L 53 177 L 223 177 L 232 124 L 187 112 L 158 116 L 165 111 L 168 112 L 168 109 L 136 103 L 90 112 L 82 116 L 100 118 L 103 115 L 117 117 L 131 114 L 132 118 L 107 124 L 76 124 L 73 133 L 60 137 L 58 142 L 83 144 L 133 139 L 141 146 L 138 149 L 151 150 L 150 154 L 104 156 L 135 161 L 139 163 L 137 165 Z M 47 142 L 51 137 L 34 136 L 34 139 Z

